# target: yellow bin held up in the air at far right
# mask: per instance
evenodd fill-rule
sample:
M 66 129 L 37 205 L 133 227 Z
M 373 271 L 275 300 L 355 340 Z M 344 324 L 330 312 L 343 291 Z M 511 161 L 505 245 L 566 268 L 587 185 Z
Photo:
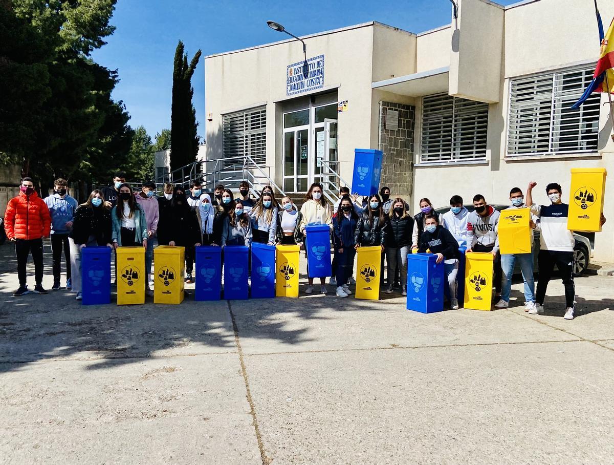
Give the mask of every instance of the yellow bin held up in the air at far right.
M 572 168 L 567 229 L 601 232 L 607 174 L 605 168 Z

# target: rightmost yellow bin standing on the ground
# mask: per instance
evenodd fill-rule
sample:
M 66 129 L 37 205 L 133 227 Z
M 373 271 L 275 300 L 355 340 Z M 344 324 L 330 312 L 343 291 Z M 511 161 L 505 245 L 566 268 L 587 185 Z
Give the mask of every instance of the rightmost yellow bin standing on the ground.
M 465 255 L 465 308 L 492 310 L 492 267 L 490 252 L 469 252 Z

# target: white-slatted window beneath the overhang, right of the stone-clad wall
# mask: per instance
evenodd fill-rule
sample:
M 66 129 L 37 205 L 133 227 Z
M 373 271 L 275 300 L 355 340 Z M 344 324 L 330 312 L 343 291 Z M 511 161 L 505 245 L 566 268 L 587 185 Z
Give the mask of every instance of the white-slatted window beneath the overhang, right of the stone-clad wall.
M 488 104 L 445 94 L 422 98 L 420 163 L 486 160 Z

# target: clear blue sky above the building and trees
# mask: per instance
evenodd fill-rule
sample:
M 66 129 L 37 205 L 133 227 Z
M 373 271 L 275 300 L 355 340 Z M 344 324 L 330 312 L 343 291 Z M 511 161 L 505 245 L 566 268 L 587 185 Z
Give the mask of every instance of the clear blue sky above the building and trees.
M 508 5 L 516 0 L 498 2 Z M 115 34 L 93 58 L 119 70 L 114 98 L 126 104 L 130 125 L 143 125 L 153 139 L 171 125 L 173 57 L 179 39 L 192 58 L 198 49 L 204 56 L 288 37 L 268 28 L 266 20 L 303 36 L 373 20 L 420 33 L 449 23 L 450 17 L 449 0 L 119 0 L 111 20 Z M 192 85 L 198 133 L 204 135 L 202 58 Z

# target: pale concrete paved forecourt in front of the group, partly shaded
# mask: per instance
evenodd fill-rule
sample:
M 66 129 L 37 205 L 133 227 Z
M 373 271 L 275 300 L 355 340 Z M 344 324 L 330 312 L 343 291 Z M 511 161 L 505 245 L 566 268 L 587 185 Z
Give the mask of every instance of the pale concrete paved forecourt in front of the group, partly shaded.
M 15 299 L 4 273 L 0 463 L 609 464 L 614 278 L 576 282 L 565 321 L 560 281 L 545 316 L 421 315 L 332 295 L 83 308 Z

